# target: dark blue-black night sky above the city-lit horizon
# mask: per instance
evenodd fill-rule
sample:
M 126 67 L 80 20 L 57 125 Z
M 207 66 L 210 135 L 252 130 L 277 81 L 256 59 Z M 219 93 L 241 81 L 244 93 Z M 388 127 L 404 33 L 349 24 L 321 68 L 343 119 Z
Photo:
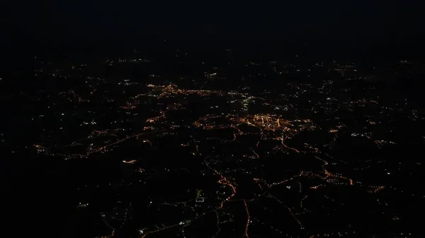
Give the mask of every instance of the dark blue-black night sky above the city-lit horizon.
M 420 1 L 13 1 L 2 44 L 28 49 L 282 44 L 402 49 L 424 40 Z M 387 49 L 385 48 L 385 49 Z

